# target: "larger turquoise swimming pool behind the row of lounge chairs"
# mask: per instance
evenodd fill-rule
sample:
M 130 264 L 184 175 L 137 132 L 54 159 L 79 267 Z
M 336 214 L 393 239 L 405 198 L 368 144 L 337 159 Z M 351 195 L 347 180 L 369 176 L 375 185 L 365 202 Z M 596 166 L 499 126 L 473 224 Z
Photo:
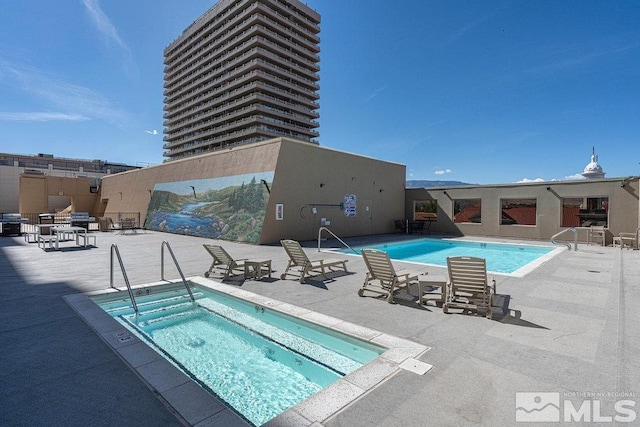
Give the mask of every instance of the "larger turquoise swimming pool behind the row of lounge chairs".
M 379 249 L 389 258 L 420 264 L 447 265 L 450 256 L 475 256 L 487 260 L 487 270 L 493 273 L 523 276 L 547 261 L 562 248 L 511 243 L 477 242 L 454 239 L 418 239 L 356 246 L 353 249 Z M 343 253 L 350 253 L 346 249 Z

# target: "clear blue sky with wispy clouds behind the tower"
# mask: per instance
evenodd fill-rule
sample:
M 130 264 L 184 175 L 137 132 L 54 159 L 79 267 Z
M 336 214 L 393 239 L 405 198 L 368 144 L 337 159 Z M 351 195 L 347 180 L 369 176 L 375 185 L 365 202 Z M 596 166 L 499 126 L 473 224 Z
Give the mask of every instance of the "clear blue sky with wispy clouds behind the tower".
M 407 179 L 640 175 L 640 2 L 305 2 L 322 16 L 322 146 Z M 214 4 L 0 9 L 0 152 L 161 163 L 163 50 Z

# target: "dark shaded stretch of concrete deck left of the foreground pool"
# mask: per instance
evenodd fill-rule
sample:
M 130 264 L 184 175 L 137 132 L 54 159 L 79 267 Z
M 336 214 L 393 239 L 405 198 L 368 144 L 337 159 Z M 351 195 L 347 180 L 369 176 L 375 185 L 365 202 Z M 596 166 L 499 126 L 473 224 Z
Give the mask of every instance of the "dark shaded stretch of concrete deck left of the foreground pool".
M 78 290 L 50 257 L 21 270 L 17 239 L 0 238 L 0 425 L 182 425 L 64 301 Z

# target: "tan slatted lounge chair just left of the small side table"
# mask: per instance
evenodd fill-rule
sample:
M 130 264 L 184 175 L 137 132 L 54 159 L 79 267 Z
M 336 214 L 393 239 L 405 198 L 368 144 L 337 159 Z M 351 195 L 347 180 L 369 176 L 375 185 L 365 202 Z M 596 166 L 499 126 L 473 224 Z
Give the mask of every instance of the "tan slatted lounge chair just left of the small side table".
M 393 295 L 403 288 L 409 289 L 411 283 L 418 283 L 421 273 L 396 271 L 389 259 L 389 254 L 377 249 L 362 249 L 362 258 L 367 265 L 367 274 L 358 295 L 365 291 L 384 295 L 388 303 L 393 303 Z M 426 274 L 422 273 L 422 274 Z

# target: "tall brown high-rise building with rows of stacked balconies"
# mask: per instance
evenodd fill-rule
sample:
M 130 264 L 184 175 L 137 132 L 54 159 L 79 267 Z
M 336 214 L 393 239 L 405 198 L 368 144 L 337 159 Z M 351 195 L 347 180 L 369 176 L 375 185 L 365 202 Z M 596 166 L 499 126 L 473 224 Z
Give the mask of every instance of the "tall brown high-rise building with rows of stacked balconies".
M 320 15 L 221 0 L 164 51 L 164 156 L 289 137 L 317 142 Z

